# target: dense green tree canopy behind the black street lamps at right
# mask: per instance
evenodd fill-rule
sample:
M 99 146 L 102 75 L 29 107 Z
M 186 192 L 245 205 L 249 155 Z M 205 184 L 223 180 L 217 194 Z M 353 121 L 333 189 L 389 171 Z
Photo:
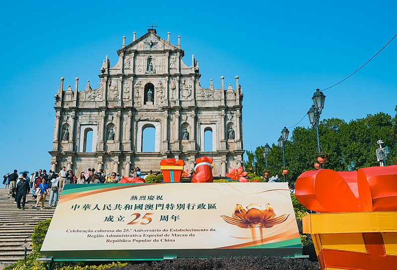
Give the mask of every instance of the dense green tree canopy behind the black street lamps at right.
M 396 106 L 397 112 L 397 106 Z M 376 143 L 382 140 L 390 147 L 387 165 L 397 164 L 397 151 L 395 149 L 397 137 L 397 114 L 394 118 L 387 113 L 379 112 L 375 115 L 368 114 L 365 118 L 351 120 L 346 123 L 342 119 L 324 119 L 319 124 L 321 150 L 329 154 L 324 168 L 335 171 L 346 171 L 351 161 L 355 162 L 355 169 L 370 166 L 379 166 L 376 160 Z M 258 175 L 265 172 L 264 146 L 259 146 L 253 151 L 247 151 L 248 161 L 244 167 L 252 167 L 254 154 L 258 157 L 256 171 Z M 295 182 L 298 176 L 307 170 L 314 170 L 317 158 L 317 135 L 314 128 L 295 127 L 292 135 L 285 143 L 285 162 L 289 170 L 286 180 Z M 282 150 L 271 145 L 267 155 L 269 176 L 278 174 L 282 179 Z

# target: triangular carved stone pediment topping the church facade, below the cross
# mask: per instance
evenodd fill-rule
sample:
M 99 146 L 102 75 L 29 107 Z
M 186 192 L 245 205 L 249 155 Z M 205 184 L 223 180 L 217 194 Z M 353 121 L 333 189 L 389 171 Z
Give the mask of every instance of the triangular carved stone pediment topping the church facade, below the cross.
M 136 50 L 136 51 L 162 51 L 162 50 L 177 50 L 178 47 L 161 39 L 158 35 L 148 32 L 142 37 L 138 38 L 131 44 L 127 45 L 120 51 Z

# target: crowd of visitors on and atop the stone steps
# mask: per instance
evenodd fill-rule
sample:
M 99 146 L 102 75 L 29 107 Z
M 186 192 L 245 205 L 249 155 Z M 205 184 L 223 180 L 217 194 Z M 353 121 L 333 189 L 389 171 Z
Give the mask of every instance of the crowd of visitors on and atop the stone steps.
M 131 170 L 128 177 L 145 178 L 150 174 L 153 174 L 151 170 L 148 174 L 142 176 L 139 167 L 136 167 L 136 169 Z M 44 209 L 47 195 L 50 195 L 49 206 L 57 206 L 59 192 L 62 192 L 65 184 L 115 184 L 122 179 L 119 173 L 106 174 L 103 169 L 97 171 L 94 168 L 89 168 L 86 172 L 80 172 L 77 178 L 71 169 L 66 170 L 66 166 L 63 166 L 58 173 L 50 170 L 47 174 L 46 170 L 39 169 L 36 173 L 31 173 L 30 177 L 26 172 L 22 172 L 18 176 L 18 171 L 14 170 L 11 174 L 5 174 L 3 178 L 3 184 L 8 189 L 8 195 L 15 198 L 14 203 L 18 209 L 25 208 L 26 195 L 29 193 L 33 196 L 32 199 L 36 201 L 36 205 L 33 207 Z

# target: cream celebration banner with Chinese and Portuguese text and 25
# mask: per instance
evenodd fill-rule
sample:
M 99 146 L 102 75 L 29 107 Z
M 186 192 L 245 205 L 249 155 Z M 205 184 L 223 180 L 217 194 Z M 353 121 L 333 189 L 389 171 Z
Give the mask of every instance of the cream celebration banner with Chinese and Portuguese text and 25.
M 295 256 L 286 183 L 68 184 L 43 258 Z

